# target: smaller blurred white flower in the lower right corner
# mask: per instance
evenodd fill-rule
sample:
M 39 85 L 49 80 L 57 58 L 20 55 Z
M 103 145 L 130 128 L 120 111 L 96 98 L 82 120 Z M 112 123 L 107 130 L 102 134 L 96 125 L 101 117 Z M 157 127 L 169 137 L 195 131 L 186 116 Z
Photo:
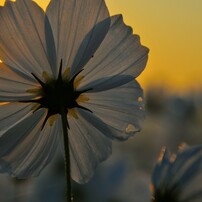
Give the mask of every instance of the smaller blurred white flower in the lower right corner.
M 153 202 L 202 201 L 202 146 L 182 145 L 176 155 L 163 148 L 153 175 Z

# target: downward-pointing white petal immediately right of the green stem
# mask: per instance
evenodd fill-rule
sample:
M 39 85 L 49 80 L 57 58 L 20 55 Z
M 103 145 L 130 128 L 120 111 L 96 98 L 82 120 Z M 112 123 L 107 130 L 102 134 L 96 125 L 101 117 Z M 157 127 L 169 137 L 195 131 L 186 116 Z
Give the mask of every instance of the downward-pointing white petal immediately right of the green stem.
M 111 140 L 76 110 L 78 117 L 68 116 L 71 154 L 71 176 L 78 183 L 86 183 L 97 165 L 111 154 Z M 90 113 L 90 112 L 89 112 Z

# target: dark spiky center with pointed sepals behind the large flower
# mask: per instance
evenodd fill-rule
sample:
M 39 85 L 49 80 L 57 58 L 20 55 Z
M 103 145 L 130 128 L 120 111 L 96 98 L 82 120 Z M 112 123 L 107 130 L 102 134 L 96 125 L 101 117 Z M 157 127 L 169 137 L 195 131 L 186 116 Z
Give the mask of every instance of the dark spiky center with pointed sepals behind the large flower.
M 72 109 L 75 107 L 90 111 L 89 109 L 77 103 L 77 98 L 82 93 L 90 90 L 87 89 L 84 91 L 77 91 L 74 88 L 74 80 L 80 72 L 74 75 L 71 80 L 64 79 L 62 77 L 61 61 L 57 79 L 48 79 L 47 82 L 44 83 L 37 76 L 32 74 L 41 85 L 41 88 L 38 90 L 40 97 L 38 99 L 27 100 L 22 102 L 32 102 L 39 104 L 39 107 L 37 107 L 34 111 L 37 111 L 41 108 L 48 109 L 48 113 L 43 123 L 43 127 L 50 116 L 55 114 L 61 114 L 62 110 L 65 110 L 66 114 L 68 113 L 68 109 Z

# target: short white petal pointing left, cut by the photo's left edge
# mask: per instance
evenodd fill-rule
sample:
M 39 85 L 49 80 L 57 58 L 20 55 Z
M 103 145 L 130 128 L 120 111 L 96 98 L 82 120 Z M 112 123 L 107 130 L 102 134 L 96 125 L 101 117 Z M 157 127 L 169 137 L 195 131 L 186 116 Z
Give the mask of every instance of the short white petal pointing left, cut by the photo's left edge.
M 0 102 L 34 98 L 35 95 L 28 93 L 27 90 L 37 88 L 37 85 L 39 84 L 36 81 L 0 63 Z

